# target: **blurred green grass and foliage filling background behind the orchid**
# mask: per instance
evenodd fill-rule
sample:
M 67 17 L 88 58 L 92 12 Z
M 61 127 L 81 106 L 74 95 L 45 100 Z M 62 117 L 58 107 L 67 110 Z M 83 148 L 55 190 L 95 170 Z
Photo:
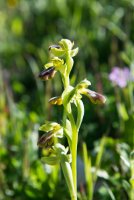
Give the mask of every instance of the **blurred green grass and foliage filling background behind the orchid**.
M 80 47 L 72 84 L 87 77 L 107 96 L 104 107 L 85 104 L 78 154 L 86 179 L 78 177 L 79 199 L 89 197 L 94 183 L 95 200 L 133 200 L 133 24 L 133 0 L 0 1 L 0 200 L 69 199 L 60 168 L 43 165 L 45 152 L 37 148 L 39 125 L 62 116 L 62 109 L 45 106 L 61 94 L 58 74 L 44 84 L 37 78 L 47 47 L 61 38 Z M 109 79 L 115 66 L 130 71 L 124 87 Z

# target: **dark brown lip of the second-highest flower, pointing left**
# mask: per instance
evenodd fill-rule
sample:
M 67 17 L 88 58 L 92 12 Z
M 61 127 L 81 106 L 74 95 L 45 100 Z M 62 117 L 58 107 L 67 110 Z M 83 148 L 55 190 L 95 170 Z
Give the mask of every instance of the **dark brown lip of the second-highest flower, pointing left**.
M 47 80 L 47 79 L 52 78 L 55 72 L 56 72 L 55 67 L 49 67 L 48 69 L 44 69 L 43 71 L 41 71 L 38 77 L 43 80 Z

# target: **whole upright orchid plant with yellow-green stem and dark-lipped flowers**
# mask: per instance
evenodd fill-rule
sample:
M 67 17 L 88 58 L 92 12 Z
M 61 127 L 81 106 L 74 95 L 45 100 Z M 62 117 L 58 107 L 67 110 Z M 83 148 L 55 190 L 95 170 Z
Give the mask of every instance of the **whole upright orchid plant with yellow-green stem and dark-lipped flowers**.
M 87 96 L 95 104 L 104 104 L 106 98 L 88 89 L 91 83 L 87 79 L 82 80 L 75 87 L 70 85 L 70 72 L 74 64 L 73 57 L 78 53 L 78 48 L 73 49 L 73 46 L 74 43 L 68 39 L 60 40 L 58 45 L 51 45 L 49 47 L 50 62 L 39 74 L 39 78 L 42 80 L 49 80 L 55 76 L 56 72 L 60 73 L 64 90 L 61 96 L 51 98 L 49 103 L 63 105 L 64 118 L 62 124 L 46 121 L 39 128 L 44 134 L 39 138 L 38 146 L 49 151 L 49 156 L 42 157 L 43 162 L 49 165 L 61 165 L 71 200 L 76 200 L 78 133 L 84 116 L 82 95 Z M 77 109 L 76 119 L 72 110 L 73 106 Z M 67 138 L 67 147 L 61 143 L 63 137 Z

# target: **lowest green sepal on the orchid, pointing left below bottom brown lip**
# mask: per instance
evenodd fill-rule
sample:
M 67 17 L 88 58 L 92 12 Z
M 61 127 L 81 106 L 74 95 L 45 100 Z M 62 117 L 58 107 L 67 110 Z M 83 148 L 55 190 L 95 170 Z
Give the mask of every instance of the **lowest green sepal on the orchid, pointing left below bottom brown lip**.
M 57 165 L 60 163 L 60 158 L 58 156 L 50 156 L 50 157 L 46 156 L 42 157 L 41 161 L 48 165 Z

